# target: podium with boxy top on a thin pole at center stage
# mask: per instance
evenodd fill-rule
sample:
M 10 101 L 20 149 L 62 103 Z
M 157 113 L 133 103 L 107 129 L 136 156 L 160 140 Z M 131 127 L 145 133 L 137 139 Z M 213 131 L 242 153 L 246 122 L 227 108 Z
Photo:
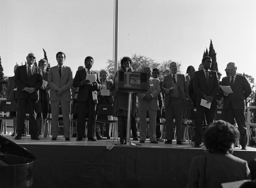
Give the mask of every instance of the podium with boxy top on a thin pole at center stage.
M 140 72 L 117 72 L 115 78 L 118 92 L 128 93 L 128 111 L 127 111 L 127 130 L 126 130 L 126 144 L 116 144 L 119 146 L 141 146 L 139 144 L 131 143 L 130 141 L 130 128 L 131 128 L 131 117 L 132 117 L 132 94 L 133 93 L 144 93 L 147 91 L 148 78 L 147 73 Z

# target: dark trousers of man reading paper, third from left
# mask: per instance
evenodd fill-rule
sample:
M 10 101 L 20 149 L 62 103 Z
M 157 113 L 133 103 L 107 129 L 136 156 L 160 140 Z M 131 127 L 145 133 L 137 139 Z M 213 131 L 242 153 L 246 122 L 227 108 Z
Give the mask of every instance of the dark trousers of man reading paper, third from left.
M 96 104 L 93 102 L 92 95 L 88 96 L 87 101 L 78 102 L 78 124 L 77 137 L 82 138 L 86 129 L 86 117 L 88 122 L 88 138 L 95 138 L 95 110 Z

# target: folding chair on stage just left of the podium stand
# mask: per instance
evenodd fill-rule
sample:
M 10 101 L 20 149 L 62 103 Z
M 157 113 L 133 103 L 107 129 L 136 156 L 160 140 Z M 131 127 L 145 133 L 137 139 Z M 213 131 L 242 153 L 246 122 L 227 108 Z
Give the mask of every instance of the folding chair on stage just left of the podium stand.
M 95 125 L 96 123 L 112 124 L 112 137 L 118 140 L 117 118 L 113 117 L 113 120 L 98 120 L 97 119 L 98 115 L 113 115 L 113 106 L 111 104 L 97 105 Z M 110 127 L 110 131 L 111 131 L 111 127 Z

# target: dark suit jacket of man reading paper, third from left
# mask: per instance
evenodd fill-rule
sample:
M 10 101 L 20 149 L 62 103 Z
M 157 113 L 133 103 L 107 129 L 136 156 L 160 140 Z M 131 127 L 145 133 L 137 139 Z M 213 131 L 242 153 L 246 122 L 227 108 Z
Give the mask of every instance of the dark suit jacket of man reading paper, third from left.
M 92 70 L 92 74 L 96 74 L 97 75 L 97 83 L 98 83 L 98 87 L 97 90 L 99 90 L 101 88 L 101 84 L 100 84 L 100 78 L 99 78 L 99 74 Z M 77 102 L 85 102 L 88 99 L 89 95 L 92 95 L 92 91 L 94 90 L 93 86 L 90 84 L 84 84 L 81 85 L 81 81 L 86 79 L 86 69 L 83 68 L 81 70 L 77 70 L 75 78 L 74 78 L 74 82 L 73 82 L 73 86 L 74 87 L 79 87 L 78 90 L 78 95 L 77 95 Z

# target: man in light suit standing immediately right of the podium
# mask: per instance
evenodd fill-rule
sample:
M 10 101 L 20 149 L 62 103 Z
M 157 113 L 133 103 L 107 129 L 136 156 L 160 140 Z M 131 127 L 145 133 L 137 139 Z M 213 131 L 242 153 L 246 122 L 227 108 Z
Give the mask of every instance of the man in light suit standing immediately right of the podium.
M 158 106 L 158 95 L 161 91 L 159 80 L 152 78 L 152 68 L 145 67 L 143 69 L 144 73 L 147 73 L 148 78 L 148 89 L 144 93 L 139 93 L 137 95 L 139 102 L 139 117 L 140 117 L 140 143 L 144 143 L 146 139 L 146 113 L 148 112 L 148 117 L 150 120 L 150 125 L 148 129 L 148 137 L 150 137 L 150 142 L 157 144 L 156 140 L 156 121 L 157 121 L 157 111 Z

